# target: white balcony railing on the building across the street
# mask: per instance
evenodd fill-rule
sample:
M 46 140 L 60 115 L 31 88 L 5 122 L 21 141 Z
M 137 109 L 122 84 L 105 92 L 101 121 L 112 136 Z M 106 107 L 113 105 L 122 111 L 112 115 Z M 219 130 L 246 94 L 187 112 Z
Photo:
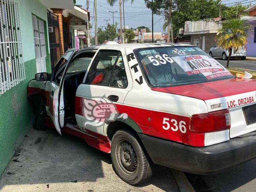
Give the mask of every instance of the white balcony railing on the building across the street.
M 200 21 L 185 21 L 185 32 L 217 30 L 219 28 L 219 21 L 214 21 L 214 19 L 205 19 Z

